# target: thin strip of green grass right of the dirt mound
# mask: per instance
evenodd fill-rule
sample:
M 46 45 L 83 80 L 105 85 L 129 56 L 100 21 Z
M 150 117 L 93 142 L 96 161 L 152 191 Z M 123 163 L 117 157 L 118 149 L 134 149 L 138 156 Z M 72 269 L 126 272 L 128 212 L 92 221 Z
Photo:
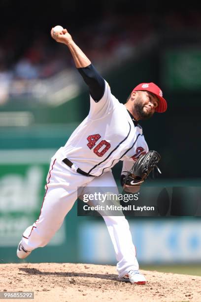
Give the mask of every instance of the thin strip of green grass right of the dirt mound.
M 140 265 L 141 269 L 201 276 L 201 264 Z

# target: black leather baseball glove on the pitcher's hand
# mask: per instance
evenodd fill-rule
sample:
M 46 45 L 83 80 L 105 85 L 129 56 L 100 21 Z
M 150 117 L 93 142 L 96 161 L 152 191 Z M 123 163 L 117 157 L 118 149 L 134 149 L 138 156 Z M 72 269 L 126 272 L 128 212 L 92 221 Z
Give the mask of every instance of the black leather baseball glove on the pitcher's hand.
M 146 154 L 141 155 L 134 163 L 133 168 L 127 171 L 123 179 L 123 184 L 126 186 L 140 186 L 154 167 L 161 173 L 157 167 L 157 163 L 160 159 L 161 155 L 157 151 L 148 151 Z

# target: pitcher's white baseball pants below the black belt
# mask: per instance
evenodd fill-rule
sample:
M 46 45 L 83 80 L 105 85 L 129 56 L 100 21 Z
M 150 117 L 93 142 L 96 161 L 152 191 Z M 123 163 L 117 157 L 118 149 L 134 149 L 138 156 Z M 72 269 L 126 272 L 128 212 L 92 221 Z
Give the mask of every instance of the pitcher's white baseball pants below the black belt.
M 25 249 L 32 251 L 50 241 L 76 201 L 77 187 L 85 187 L 82 194 L 89 193 L 90 187 L 102 187 L 102 192 L 104 187 L 117 190 L 111 172 L 100 177 L 83 176 L 54 156 L 47 175 L 46 193 L 39 218 L 23 233 L 22 244 Z M 121 278 L 131 269 L 139 268 L 129 224 L 124 216 L 103 216 L 103 219 L 114 246 L 118 261 L 117 271 Z

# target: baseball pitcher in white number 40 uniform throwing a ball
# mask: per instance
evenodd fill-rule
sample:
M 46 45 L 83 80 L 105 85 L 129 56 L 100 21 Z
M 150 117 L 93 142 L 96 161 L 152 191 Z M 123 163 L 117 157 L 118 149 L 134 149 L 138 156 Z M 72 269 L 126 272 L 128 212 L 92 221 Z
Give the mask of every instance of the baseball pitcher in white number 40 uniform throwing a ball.
M 148 152 L 138 120 L 167 110 L 162 91 L 154 83 L 137 85 L 127 103 L 119 103 L 66 29 L 57 33 L 52 29 L 51 36 L 70 50 L 78 72 L 89 87 L 90 111 L 51 159 L 39 217 L 24 231 L 18 245 L 20 259 L 50 241 L 76 201 L 78 187 L 83 188 L 80 195 L 89 192 L 90 187 L 117 189 L 111 168 L 122 160 L 124 176 L 134 161 Z M 114 246 L 119 279 L 145 284 L 128 221 L 124 216 L 103 216 L 103 219 Z

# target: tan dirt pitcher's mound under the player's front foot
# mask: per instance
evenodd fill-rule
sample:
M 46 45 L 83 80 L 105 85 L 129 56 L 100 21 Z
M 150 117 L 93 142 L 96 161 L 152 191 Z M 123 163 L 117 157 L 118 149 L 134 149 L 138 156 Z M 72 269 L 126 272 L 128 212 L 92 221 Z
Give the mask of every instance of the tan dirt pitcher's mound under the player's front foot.
M 201 277 L 141 272 L 146 285 L 119 281 L 116 267 L 110 265 L 0 264 L 0 291 L 33 291 L 34 302 L 201 302 Z

